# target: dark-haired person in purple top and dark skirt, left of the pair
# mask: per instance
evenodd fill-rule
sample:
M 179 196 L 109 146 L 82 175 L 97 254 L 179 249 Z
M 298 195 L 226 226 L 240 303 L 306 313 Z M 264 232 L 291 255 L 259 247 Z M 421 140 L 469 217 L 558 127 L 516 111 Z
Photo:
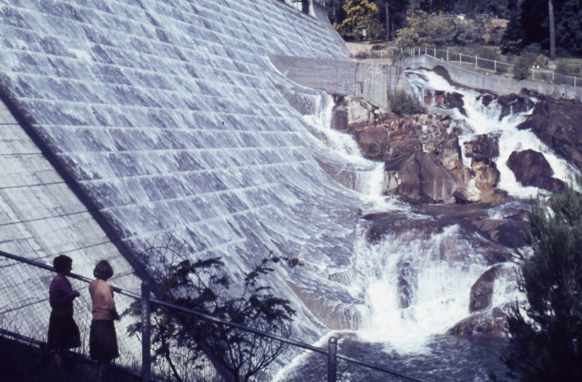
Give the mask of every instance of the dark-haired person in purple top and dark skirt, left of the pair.
M 62 365 L 62 351 L 81 346 L 78 326 L 73 318 L 73 300 L 80 294 L 74 291 L 66 275 L 73 269 L 73 260 L 69 256 L 59 255 L 52 262 L 57 276 L 52 279 L 49 288 L 49 303 L 52 308 L 47 335 L 47 348 L 54 350 L 54 361 Z

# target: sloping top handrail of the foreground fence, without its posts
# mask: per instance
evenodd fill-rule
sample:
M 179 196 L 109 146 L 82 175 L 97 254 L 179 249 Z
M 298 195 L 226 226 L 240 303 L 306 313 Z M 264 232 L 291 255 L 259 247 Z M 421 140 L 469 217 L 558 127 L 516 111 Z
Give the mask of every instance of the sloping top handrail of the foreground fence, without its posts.
M 8 257 L 8 258 L 10 258 L 12 260 L 16 260 L 18 262 L 24 262 L 24 263 L 26 263 L 28 265 L 33 265 L 35 267 L 40 267 L 40 268 L 45 269 L 45 270 L 50 270 L 51 272 L 57 272 L 54 269 L 54 267 L 51 267 L 50 265 L 44 265 L 44 264 L 42 264 L 40 262 L 36 262 L 34 260 L 28 260 L 25 257 L 21 257 L 21 256 L 18 256 L 18 255 L 13 255 L 11 253 L 6 253 L 6 252 L 4 252 L 2 250 L 0 250 L 0 255 L 1 256 L 4 256 L 4 257 Z M 91 279 L 88 279 L 87 277 L 83 277 L 81 275 L 74 274 L 74 273 L 67 274 L 67 277 L 71 277 L 73 279 L 78 279 L 78 280 L 80 280 L 82 282 L 88 282 L 88 283 L 90 283 L 90 282 L 93 281 Z M 118 287 L 111 287 L 111 288 L 116 293 L 118 293 L 118 294 L 123 294 L 125 296 L 129 296 L 129 297 L 132 297 L 134 299 L 141 299 L 141 296 L 139 294 L 134 294 L 132 292 L 125 291 L 124 289 L 120 289 Z M 200 318 L 204 318 L 205 320 L 209 320 L 209 321 L 212 321 L 214 323 L 220 323 L 222 325 L 228 325 L 228 326 L 231 326 L 233 328 L 238 328 L 240 330 L 245 330 L 246 332 L 252 332 L 255 335 L 260 335 L 262 337 L 271 338 L 272 340 L 277 340 L 279 342 L 284 342 L 284 343 L 289 344 L 289 345 L 293 345 L 293 346 L 296 346 L 296 347 L 301 347 L 303 349 L 308 349 L 308 350 L 311 350 L 312 352 L 317 352 L 317 353 L 320 353 L 320 354 L 329 355 L 329 352 L 327 352 L 325 349 L 321 349 L 320 347 L 315 347 L 313 345 L 308 345 L 305 342 L 299 342 L 299 341 L 289 340 L 288 338 L 281 337 L 279 335 L 273 335 L 273 334 L 271 334 L 269 332 L 264 332 L 262 330 L 258 330 L 258 329 L 255 329 L 255 328 L 250 328 L 250 327 L 245 326 L 245 325 L 241 325 L 241 324 L 238 324 L 238 323 L 233 323 L 232 321 L 223 320 L 221 318 L 217 318 L 217 317 L 214 317 L 214 316 L 210 316 L 209 314 L 202 313 L 202 312 L 199 312 L 199 311 L 194 311 L 192 309 L 184 308 L 182 306 L 178 306 L 178 305 L 175 305 L 173 303 L 168 303 L 168 302 L 163 301 L 163 300 L 151 299 L 150 298 L 149 301 L 151 303 L 156 303 L 156 304 L 158 304 L 160 306 L 165 306 L 166 308 L 170 308 L 170 309 L 173 309 L 175 311 L 181 311 L 182 313 L 192 314 L 193 316 L 197 316 L 197 317 L 200 317 Z M 0 329 L 0 334 L 2 332 L 3 332 L 3 330 Z M 377 365 L 377 364 L 371 364 L 369 362 L 360 361 L 359 359 L 354 359 L 354 358 L 347 357 L 347 356 L 344 356 L 344 355 L 341 355 L 341 354 L 336 354 L 336 357 L 339 358 L 339 359 L 343 359 L 344 361 L 347 361 L 347 362 L 349 362 L 351 364 L 357 364 L 357 365 L 360 365 L 360 366 L 368 367 L 369 369 L 375 369 L 375 370 L 378 370 L 378 371 L 382 371 L 383 373 L 392 374 L 393 376 L 398 376 L 400 378 L 405 378 L 405 379 L 407 379 L 409 381 L 426 382 L 424 379 L 419 379 L 419 378 L 416 378 L 414 376 L 409 376 L 407 374 L 403 374 L 403 373 L 400 373 L 399 371 L 395 371 L 395 370 L 392 370 L 392 369 L 389 369 L 387 367 L 380 366 L 380 365 Z

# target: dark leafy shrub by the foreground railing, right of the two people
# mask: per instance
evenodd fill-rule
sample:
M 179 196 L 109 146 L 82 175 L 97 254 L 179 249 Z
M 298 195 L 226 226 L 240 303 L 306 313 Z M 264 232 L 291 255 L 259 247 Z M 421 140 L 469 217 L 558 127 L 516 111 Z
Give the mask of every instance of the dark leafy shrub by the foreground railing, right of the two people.
M 291 335 L 295 311 L 290 301 L 274 296 L 261 280 L 283 259 L 269 254 L 245 274 L 242 291 L 233 292 L 220 257 L 190 260 L 191 248 L 184 241 L 172 236 L 156 241 L 161 244 L 151 245 L 143 257 L 164 301 L 280 337 Z M 284 260 L 289 266 L 298 264 L 296 259 Z M 130 312 L 140 311 L 136 301 Z M 286 349 L 281 342 L 163 306 L 154 305 L 152 316 L 156 357 L 167 361 L 177 381 L 189 379 L 185 374 L 199 368 L 204 357 L 223 381 L 261 380 L 269 364 Z M 129 331 L 140 328 L 136 323 Z

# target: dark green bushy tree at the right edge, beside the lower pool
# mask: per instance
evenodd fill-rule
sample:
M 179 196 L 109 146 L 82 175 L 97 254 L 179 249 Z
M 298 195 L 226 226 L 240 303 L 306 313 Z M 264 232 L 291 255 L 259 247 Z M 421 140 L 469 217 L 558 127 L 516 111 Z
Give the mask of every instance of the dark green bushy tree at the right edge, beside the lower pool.
M 522 381 L 582 381 L 582 195 L 566 185 L 538 197 L 526 234 L 518 286 L 527 301 L 508 314 L 503 359 Z

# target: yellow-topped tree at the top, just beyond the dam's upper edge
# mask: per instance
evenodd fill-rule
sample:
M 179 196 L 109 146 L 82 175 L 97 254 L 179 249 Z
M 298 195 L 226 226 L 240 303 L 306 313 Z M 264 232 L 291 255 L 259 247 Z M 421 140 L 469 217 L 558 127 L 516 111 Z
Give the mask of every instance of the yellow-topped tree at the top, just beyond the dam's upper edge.
M 334 25 L 344 37 L 354 40 L 376 40 L 384 36 L 384 27 L 379 22 L 378 6 L 368 0 L 346 0 L 343 6 L 346 18 Z

